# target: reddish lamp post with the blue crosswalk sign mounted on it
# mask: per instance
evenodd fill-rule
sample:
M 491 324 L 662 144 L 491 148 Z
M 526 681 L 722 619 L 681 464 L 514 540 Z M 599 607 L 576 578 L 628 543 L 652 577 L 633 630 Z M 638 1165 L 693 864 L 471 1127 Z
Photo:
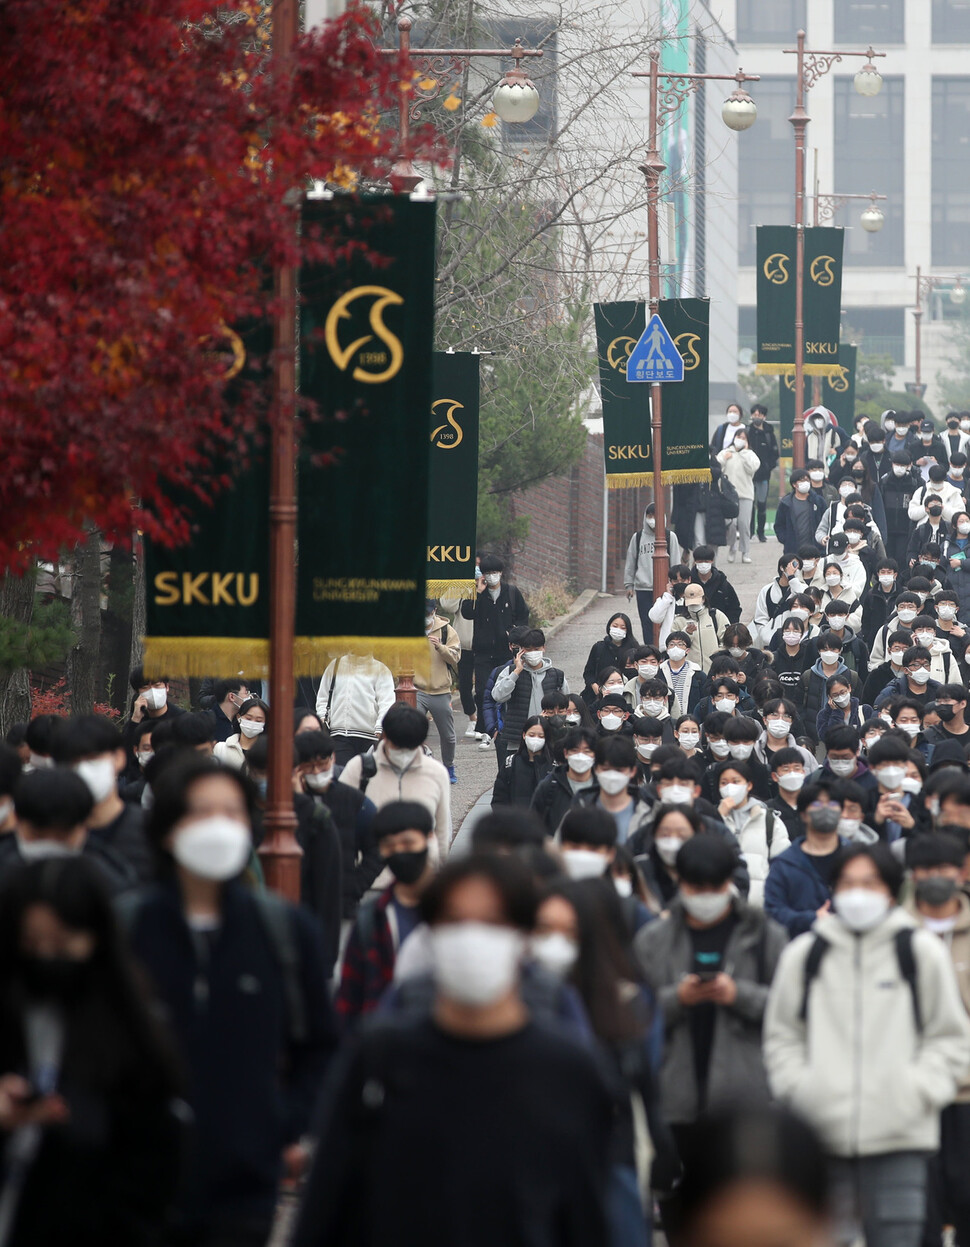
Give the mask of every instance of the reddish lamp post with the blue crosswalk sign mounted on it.
M 635 71 L 633 77 L 650 79 L 650 130 L 647 133 L 647 158 L 640 166 L 647 180 L 647 256 L 650 273 L 650 311 L 651 314 L 660 307 L 660 231 L 657 227 L 658 203 L 661 198 L 660 178 L 667 167 L 660 158 L 658 128 L 660 123 L 676 112 L 683 101 L 692 95 L 702 82 L 734 82 L 734 90 L 724 100 L 721 108 L 721 118 L 729 130 L 748 130 L 754 125 L 758 108 L 744 90 L 744 82 L 758 82 L 759 75 L 746 74 L 738 70 L 737 74 L 665 74 L 660 67 L 660 49 L 655 47 L 650 54 L 650 69 Z M 661 86 L 661 79 L 663 85 Z M 655 382 L 650 387 L 650 413 L 651 413 L 651 456 L 653 459 L 653 508 L 656 541 L 653 545 L 653 584 L 656 586 L 667 584 L 670 556 L 667 546 L 667 516 L 663 498 L 663 473 L 661 464 L 661 384 Z M 660 635 L 657 625 L 657 636 Z

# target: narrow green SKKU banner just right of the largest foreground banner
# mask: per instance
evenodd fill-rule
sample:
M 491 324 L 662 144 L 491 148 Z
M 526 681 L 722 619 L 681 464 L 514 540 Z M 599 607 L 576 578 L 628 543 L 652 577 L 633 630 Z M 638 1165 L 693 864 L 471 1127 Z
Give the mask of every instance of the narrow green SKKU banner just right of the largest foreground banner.
M 479 510 L 479 362 L 470 352 L 436 350 L 431 369 L 429 597 L 475 589 Z

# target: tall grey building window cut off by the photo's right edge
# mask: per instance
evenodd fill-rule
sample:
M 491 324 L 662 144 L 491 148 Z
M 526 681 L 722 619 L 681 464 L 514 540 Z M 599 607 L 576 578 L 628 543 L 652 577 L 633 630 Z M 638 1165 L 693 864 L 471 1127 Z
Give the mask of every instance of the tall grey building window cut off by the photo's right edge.
M 933 80 L 933 263 L 970 258 L 970 79 Z

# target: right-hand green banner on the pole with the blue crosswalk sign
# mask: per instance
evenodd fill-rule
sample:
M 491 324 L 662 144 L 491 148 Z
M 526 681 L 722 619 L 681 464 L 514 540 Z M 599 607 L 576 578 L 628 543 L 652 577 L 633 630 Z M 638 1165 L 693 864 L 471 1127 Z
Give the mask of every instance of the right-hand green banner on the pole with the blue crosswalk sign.
M 658 311 L 683 359 L 683 380 L 665 385 L 661 394 L 662 480 L 711 480 L 711 299 L 661 299 Z

